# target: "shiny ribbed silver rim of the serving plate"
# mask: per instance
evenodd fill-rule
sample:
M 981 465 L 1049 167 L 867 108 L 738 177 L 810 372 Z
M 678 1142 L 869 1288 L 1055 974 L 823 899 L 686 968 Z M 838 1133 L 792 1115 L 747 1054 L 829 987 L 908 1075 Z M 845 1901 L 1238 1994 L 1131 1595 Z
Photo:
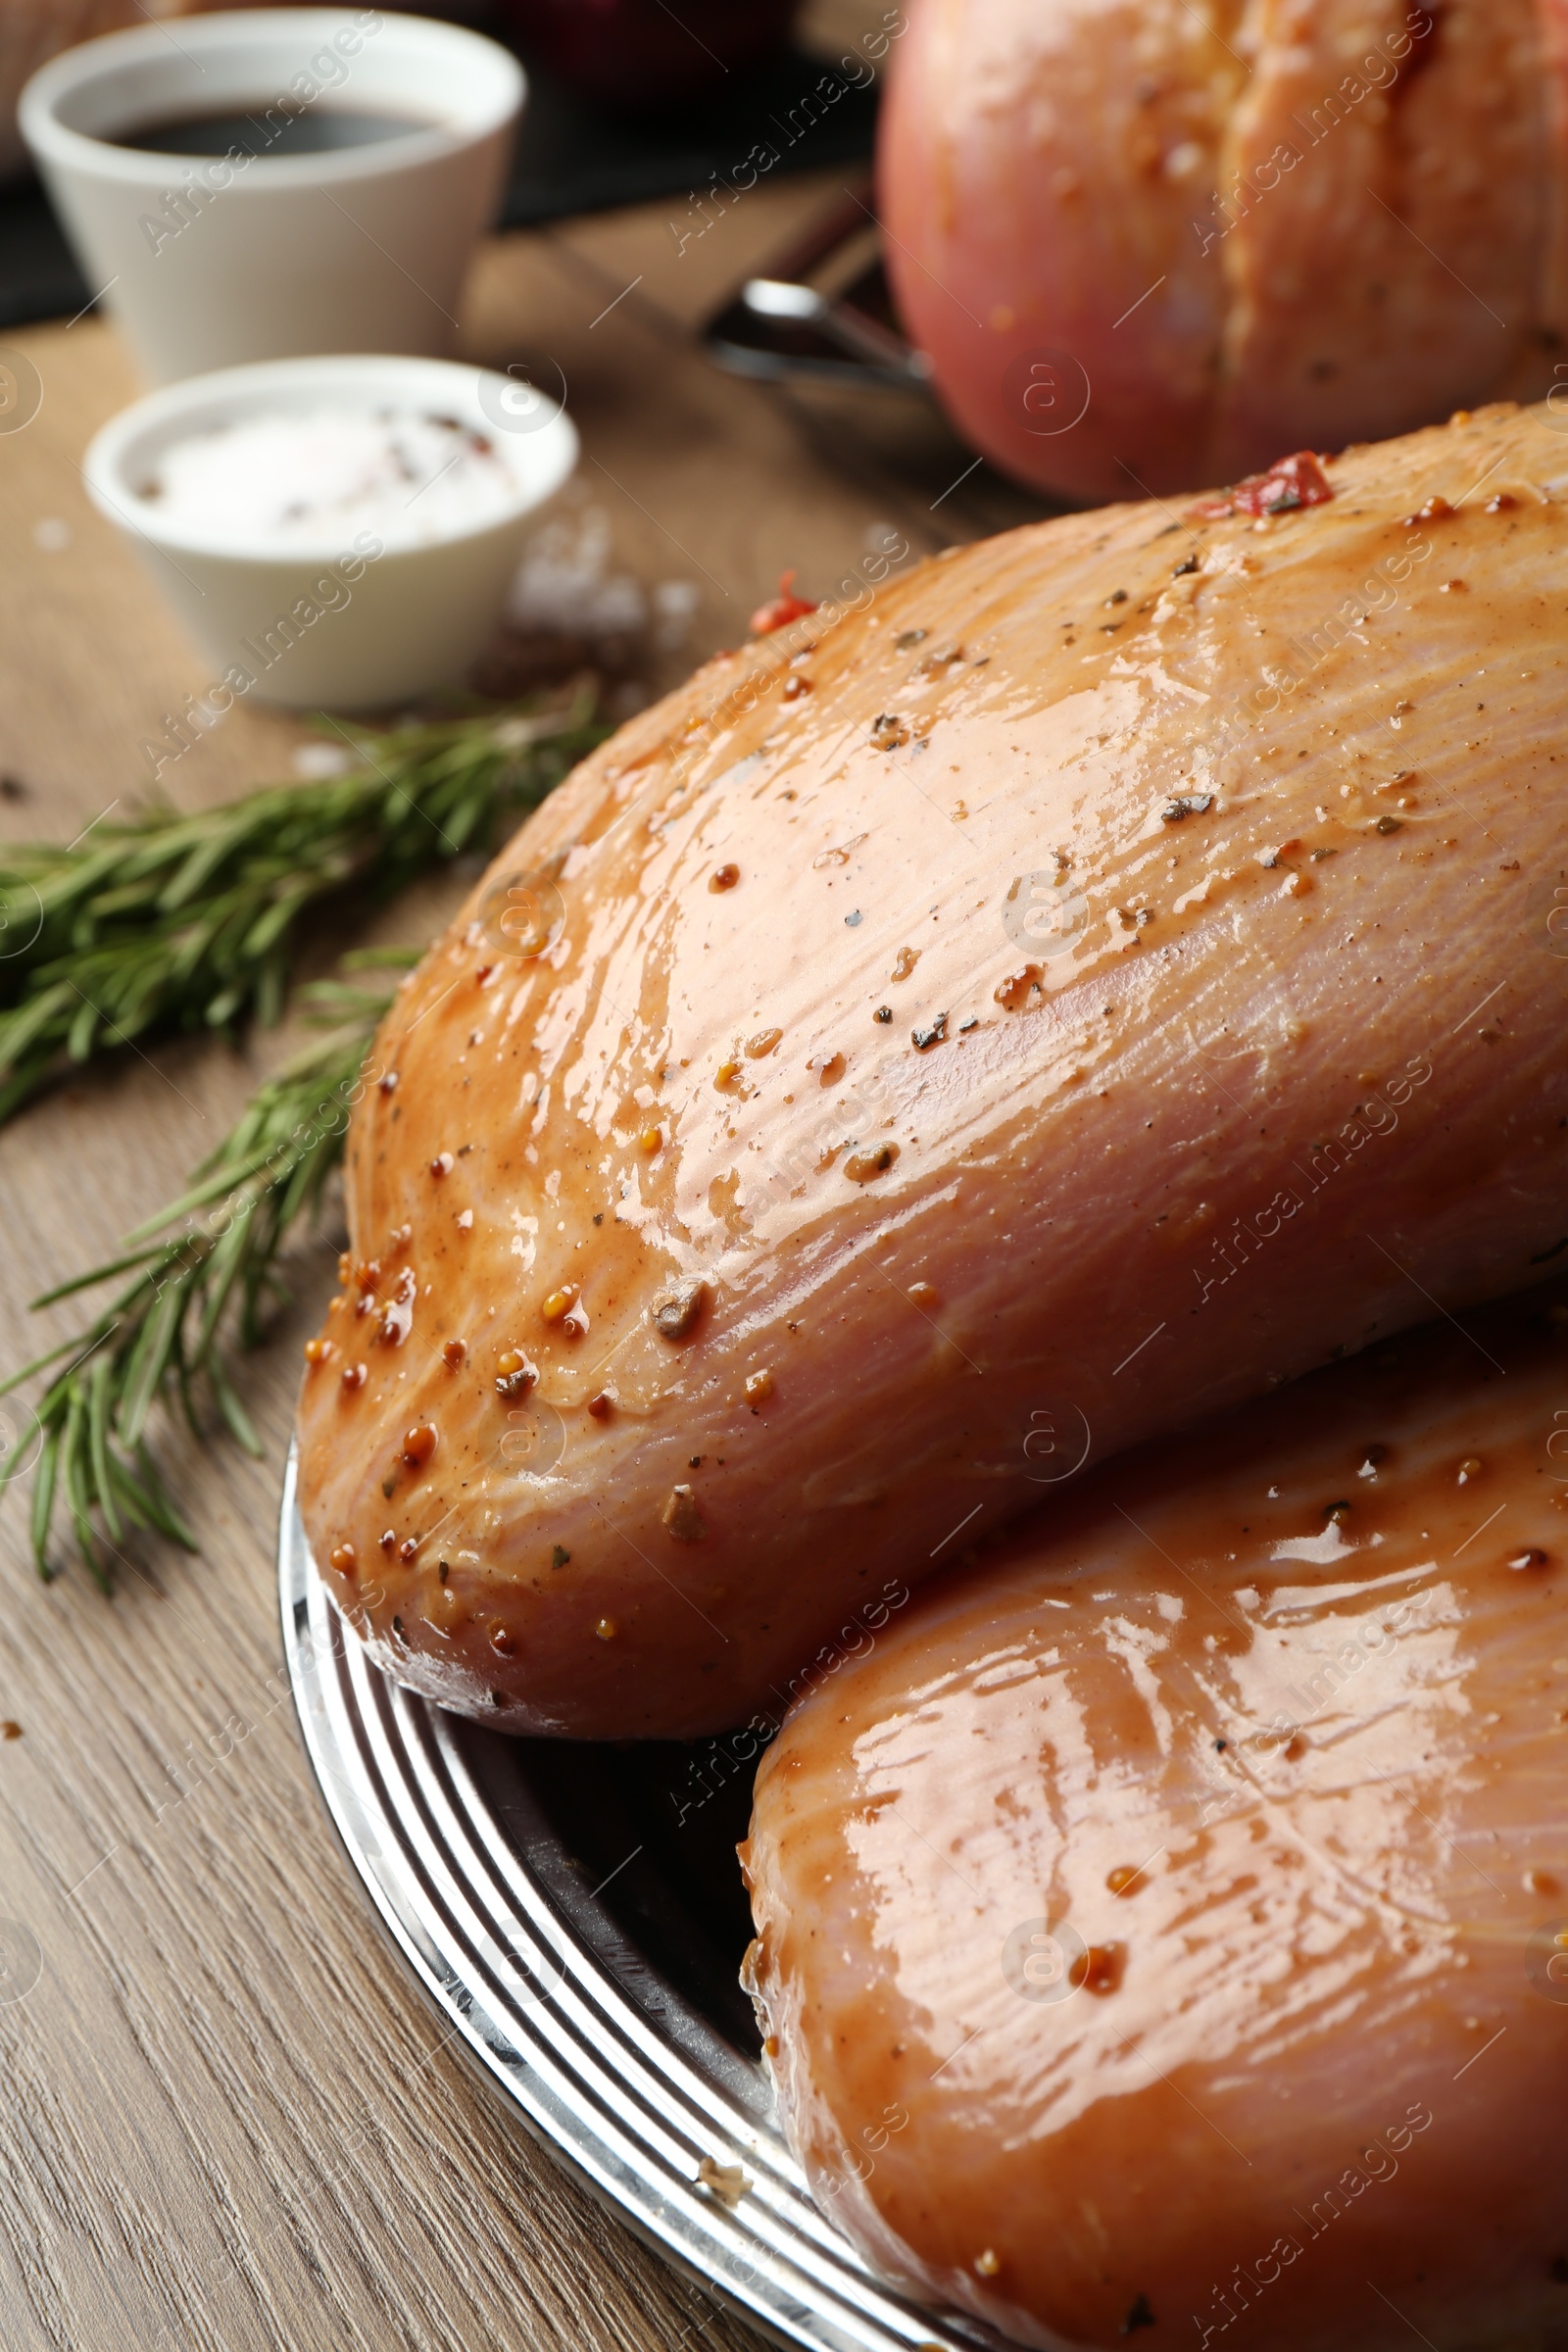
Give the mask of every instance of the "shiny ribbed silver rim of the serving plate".
M 588 1950 L 496 1823 L 456 1719 L 388 1682 L 343 1637 L 299 1515 L 294 1449 L 277 1585 L 299 1729 L 339 1842 L 451 2042 L 529 2133 L 665 2260 L 780 2345 L 1001 2347 L 990 2328 L 886 2286 L 813 2206 L 757 2084 L 748 2103 L 719 2079 L 736 2082 L 741 2060 L 698 2067 Z M 524 1971 L 543 1990 L 529 1990 Z M 698 2185 L 703 2154 L 745 2171 L 752 2187 L 736 2209 Z

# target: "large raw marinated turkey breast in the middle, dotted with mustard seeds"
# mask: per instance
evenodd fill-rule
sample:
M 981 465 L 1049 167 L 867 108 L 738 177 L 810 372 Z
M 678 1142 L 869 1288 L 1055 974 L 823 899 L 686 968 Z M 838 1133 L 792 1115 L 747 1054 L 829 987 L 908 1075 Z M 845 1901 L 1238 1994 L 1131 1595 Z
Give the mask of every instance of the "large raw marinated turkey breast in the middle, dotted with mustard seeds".
M 1086 1456 L 1533 1279 L 1563 489 L 1497 409 L 1046 522 L 595 753 L 350 1131 L 301 1491 L 376 1658 L 527 1731 L 778 1710 Z

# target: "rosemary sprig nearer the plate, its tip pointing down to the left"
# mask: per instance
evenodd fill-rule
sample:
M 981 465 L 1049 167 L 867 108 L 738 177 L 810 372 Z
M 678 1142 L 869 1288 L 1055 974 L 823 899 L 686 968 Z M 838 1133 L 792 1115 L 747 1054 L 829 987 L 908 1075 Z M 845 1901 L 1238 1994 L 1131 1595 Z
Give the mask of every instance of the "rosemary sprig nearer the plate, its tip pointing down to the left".
M 346 957 L 346 964 L 411 960 L 393 950 Z M 205 1397 L 230 1435 L 249 1454 L 261 1454 L 235 1390 L 228 1348 L 235 1341 L 254 1348 L 266 1305 L 287 1296 L 280 1256 L 301 1218 L 320 1207 L 322 1185 L 341 1160 L 348 1112 L 367 1082 L 374 1025 L 390 1002 L 386 993 L 346 983 L 322 983 L 310 997 L 317 1011 L 353 1021 L 353 1028 L 313 1044 L 268 1077 L 223 1143 L 193 1171 L 188 1190 L 125 1237 L 120 1258 L 33 1301 L 35 1308 L 56 1305 L 132 1275 L 87 1331 L 0 1383 L 5 1397 L 71 1357 L 38 1399 L 35 1428 L 12 1449 L 7 1465 L 9 1484 L 35 1461 L 33 1559 L 45 1578 L 54 1573 L 49 1534 L 59 1508 L 103 1592 L 113 1588 L 103 1555 L 113 1555 L 132 1526 L 158 1529 L 195 1550 L 195 1536 L 148 1451 L 148 1414 L 158 1399 L 181 1404 L 202 1437 Z M 172 1225 L 181 1230 L 169 1232 Z

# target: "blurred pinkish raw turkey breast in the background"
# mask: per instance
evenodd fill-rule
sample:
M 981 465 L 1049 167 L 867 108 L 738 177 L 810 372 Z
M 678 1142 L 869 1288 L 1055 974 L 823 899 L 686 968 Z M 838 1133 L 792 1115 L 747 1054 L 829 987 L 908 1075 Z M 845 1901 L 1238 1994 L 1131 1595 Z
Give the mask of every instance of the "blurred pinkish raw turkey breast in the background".
M 1563 0 L 919 0 L 879 209 L 959 430 L 1117 499 L 1544 393 L 1566 33 Z

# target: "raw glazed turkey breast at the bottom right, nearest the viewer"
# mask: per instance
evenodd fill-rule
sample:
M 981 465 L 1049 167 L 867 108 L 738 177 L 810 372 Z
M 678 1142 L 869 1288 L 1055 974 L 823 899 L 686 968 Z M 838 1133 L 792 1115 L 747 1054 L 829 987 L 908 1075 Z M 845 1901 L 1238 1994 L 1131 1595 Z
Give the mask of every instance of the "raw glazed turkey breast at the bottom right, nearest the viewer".
M 917 2293 L 1034 2345 L 1568 2343 L 1561 1296 L 1107 1465 L 766 1752 L 780 2103 Z

